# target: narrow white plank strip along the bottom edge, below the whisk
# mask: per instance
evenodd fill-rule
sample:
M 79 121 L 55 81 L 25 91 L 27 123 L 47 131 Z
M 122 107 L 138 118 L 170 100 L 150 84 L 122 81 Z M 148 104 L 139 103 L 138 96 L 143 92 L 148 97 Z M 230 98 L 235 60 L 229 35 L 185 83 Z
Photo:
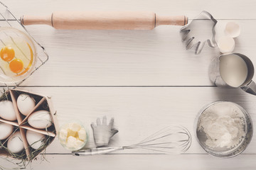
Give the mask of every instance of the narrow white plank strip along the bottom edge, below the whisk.
M 156 154 L 107 154 L 95 157 L 73 157 L 71 155 L 46 155 L 50 162 L 39 158 L 33 169 L 191 169 L 191 170 L 240 170 L 255 169 L 255 155 L 246 154 L 233 159 L 219 159 L 208 154 L 156 155 Z M 68 160 L 68 161 L 66 161 Z M 10 164 L 9 166 L 14 166 Z M 30 167 L 28 167 L 30 169 Z

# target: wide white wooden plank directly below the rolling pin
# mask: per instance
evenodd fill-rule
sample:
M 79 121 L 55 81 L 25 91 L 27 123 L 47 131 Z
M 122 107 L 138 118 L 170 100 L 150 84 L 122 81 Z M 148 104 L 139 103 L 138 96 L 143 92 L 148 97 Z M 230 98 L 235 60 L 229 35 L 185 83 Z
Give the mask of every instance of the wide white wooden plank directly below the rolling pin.
M 218 22 L 217 39 L 228 21 Z M 242 33 L 235 52 L 256 62 L 255 21 L 238 23 Z M 201 55 L 186 51 L 176 26 L 144 31 L 27 28 L 50 55 L 41 72 L 23 84 L 30 86 L 211 86 L 208 66 L 220 55 L 208 45 Z

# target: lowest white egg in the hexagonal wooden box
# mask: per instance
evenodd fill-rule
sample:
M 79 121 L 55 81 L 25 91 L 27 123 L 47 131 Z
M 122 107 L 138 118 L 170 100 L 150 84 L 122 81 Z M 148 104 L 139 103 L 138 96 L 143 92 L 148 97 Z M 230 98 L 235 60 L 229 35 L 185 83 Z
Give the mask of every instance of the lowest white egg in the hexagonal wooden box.
M 21 137 L 21 132 L 15 132 L 14 135 L 9 138 L 7 142 L 7 148 L 11 153 L 14 154 L 18 154 L 19 152 L 23 151 L 24 145 Z

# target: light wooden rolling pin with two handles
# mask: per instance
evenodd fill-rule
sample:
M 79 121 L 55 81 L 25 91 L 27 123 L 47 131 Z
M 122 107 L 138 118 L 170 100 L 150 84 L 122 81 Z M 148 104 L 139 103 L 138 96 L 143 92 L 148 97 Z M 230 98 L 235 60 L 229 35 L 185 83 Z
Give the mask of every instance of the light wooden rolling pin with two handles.
M 154 12 L 53 12 L 49 16 L 22 16 L 21 23 L 66 30 L 152 30 L 161 25 L 184 26 L 188 18 L 158 16 Z

